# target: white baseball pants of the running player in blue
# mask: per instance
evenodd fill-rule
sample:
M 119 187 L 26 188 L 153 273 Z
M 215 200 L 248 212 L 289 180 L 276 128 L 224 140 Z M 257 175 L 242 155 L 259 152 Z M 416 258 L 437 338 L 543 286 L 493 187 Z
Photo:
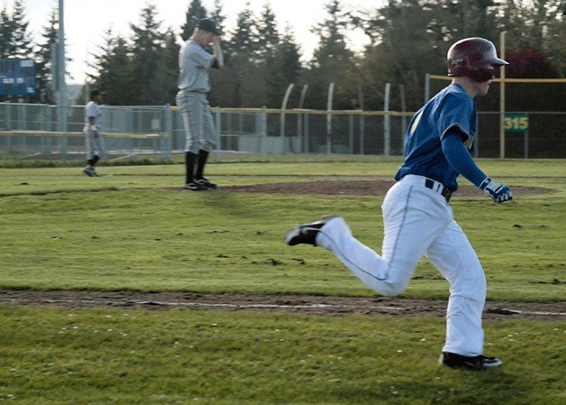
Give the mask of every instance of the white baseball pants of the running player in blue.
M 385 296 L 405 290 L 416 264 L 426 255 L 450 283 L 443 351 L 482 354 L 485 274 L 453 219 L 452 207 L 439 192 L 424 187 L 425 179 L 407 175 L 389 189 L 381 206 L 385 231 L 381 255 L 354 238 L 341 217 L 322 227 L 316 244 L 333 252 L 370 289 Z

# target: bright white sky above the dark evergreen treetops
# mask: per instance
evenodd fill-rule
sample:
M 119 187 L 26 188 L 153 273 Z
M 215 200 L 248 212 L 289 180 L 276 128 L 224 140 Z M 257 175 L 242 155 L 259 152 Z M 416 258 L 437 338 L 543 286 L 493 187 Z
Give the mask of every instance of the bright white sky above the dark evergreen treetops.
M 281 32 L 288 24 L 295 32 L 298 45 L 304 59 L 309 59 L 317 44 L 316 36 L 310 29 L 324 21 L 324 5 L 330 0 L 221 0 L 226 20 L 225 31 L 231 31 L 236 23 L 237 15 L 250 2 L 251 9 L 259 15 L 263 6 L 269 1 L 277 17 Z M 73 78 L 68 83 L 83 83 L 87 74 L 87 63 L 93 62 L 93 53 L 104 43 L 104 32 L 110 26 L 114 32 L 125 38 L 131 36 L 130 23 L 140 23 L 140 12 L 145 5 L 157 6 L 157 21 L 162 28 L 173 28 L 180 32 L 185 23 L 186 13 L 191 0 L 64 0 L 64 22 L 67 57 L 67 70 Z M 214 0 L 201 0 L 209 11 L 214 8 Z M 372 12 L 382 3 L 380 0 L 342 0 L 345 9 L 358 9 Z M 0 0 L 0 6 L 7 6 L 12 14 L 14 0 Z M 32 38 L 40 38 L 43 27 L 47 25 L 50 12 L 59 6 L 59 0 L 23 0 L 26 21 Z M 361 50 L 367 39 L 361 32 L 351 32 L 351 46 Z

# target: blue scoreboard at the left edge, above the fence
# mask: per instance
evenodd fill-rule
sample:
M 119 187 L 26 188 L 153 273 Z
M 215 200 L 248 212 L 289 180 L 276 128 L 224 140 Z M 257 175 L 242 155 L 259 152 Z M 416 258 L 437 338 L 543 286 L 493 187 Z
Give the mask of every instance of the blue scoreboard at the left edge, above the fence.
M 35 60 L 0 60 L 0 96 L 35 94 Z

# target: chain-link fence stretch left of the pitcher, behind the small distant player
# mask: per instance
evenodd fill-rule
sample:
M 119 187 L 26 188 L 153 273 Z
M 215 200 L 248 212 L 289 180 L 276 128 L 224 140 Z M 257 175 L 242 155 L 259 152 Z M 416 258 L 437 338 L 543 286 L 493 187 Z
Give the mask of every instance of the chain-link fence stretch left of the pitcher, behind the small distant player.
M 85 107 L 69 106 L 67 131 L 59 131 L 57 106 L 0 103 L 0 153 L 23 157 L 83 159 Z M 171 157 L 170 112 L 166 106 L 102 106 L 106 153 L 114 159 L 150 155 Z

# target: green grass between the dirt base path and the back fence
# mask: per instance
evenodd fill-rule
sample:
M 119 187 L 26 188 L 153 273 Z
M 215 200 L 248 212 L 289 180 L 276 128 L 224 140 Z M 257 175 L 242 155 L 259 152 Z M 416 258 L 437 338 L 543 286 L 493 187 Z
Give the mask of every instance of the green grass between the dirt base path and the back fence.
M 487 163 L 492 166 L 488 172 L 507 170 Z M 397 166 L 359 164 L 360 171 L 373 168 L 381 176 L 390 176 Z M 455 217 L 485 268 L 488 299 L 564 296 L 563 161 L 538 165 L 529 161 L 528 165 L 528 179 L 502 179 L 512 187 L 545 187 L 551 193 L 502 205 L 481 194 L 452 202 Z M 313 180 L 320 179 L 316 173 L 334 176 L 340 170 L 342 176 L 358 174 L 356 164 L 342 162 L 218 164 L 210 165 L 209 171 L 221 184 L 233 185 L 296 181 L 292 173 L 306 173 L 298 180 Z M 222 190 L 191 194 L 179 190 L 179 166 L 99 171 L 114 175 L 91 179 L 81 176 L 77 168 L 0 170 L 0 189 L 12 195 L 0 198 L 0 286 L 374 294 L 332 254 L 310 246 L 289 248 L 283 239 L 297 222 L 341 214 L 362 242 L 379 251 L 381 197 Z M 405 295 L 447 297 L 447 284 L 423 259 Z

